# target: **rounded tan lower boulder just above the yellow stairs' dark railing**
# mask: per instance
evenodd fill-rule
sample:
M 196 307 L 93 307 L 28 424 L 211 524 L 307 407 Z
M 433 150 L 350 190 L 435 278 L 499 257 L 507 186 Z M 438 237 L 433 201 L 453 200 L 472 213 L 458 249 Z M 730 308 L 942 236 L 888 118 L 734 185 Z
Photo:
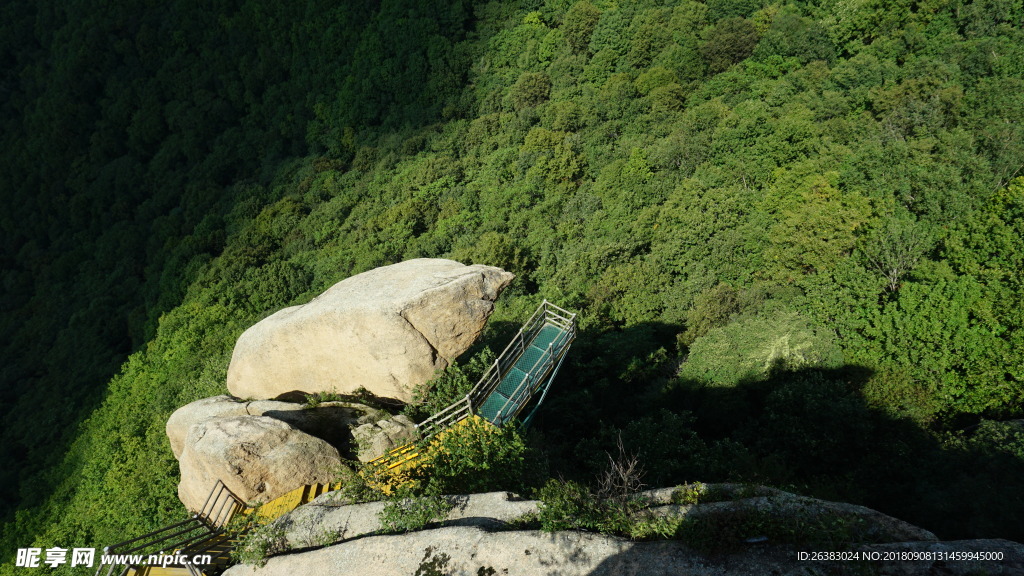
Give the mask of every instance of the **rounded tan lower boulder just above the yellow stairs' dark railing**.
M 268 502 L 332 482 L 342 463 L 327 442 L 269 416 L 213 417 L 194 424 L 178 458 L 178 498 L 200 511 L 220 480 L 245 502 Z

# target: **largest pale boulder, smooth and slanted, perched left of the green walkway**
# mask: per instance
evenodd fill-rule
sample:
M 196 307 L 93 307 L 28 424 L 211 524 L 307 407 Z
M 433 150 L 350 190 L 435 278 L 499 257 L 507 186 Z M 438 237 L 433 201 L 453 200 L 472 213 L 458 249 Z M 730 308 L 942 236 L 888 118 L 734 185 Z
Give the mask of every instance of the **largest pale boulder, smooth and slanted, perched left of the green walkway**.
M 231 355 L 227 389 L 271 399 L 364 387 L 408 402 L 415 386 L 476 340 L 513 278 L 493 266 L 434 258 L 347 278 L 246 330 Z

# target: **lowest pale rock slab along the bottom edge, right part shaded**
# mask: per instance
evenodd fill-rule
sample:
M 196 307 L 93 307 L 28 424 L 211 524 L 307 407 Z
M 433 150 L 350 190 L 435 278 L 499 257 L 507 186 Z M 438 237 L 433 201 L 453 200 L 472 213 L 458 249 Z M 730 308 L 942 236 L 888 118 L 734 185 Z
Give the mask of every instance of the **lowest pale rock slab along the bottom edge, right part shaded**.
M 266 566 L 236 566 L 225 576 L 444 574 L 479 576 L 806 576 L 808 574 L 899 574 L 945 576 L 1019 575 L 1024 545 L 1006 540 L 887 544 L 878 550 L 1001 550 L 1001 562 L 800 561 L 792 548 L 751 545 L 728 556 L 709 557 L 678 541 L 633 542 L 581 532 L 532 530 L 492 532 L 479 527 L 444 527 L 403 535 L 370 536 L 312 551 L 271 558 Z M 809 550 L 805 550 L 809 551 Z M 878 572 L 869 571 L 878 569 Z M 860 570 L 860 572 L 857 572 Z M 979 572 L 983 571 L 983 572 Z

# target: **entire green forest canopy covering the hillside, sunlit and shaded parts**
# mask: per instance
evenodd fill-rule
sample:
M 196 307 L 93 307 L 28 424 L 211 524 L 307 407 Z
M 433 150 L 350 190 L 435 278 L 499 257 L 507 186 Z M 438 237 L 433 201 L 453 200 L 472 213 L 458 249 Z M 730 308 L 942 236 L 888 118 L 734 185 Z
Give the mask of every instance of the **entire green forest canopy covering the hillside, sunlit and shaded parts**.
M 1019 1 L 0 10 L 4 558 L 181 517 L 241 331 L 422 256 L 581 313 L 552 476 L 1024 539 Z

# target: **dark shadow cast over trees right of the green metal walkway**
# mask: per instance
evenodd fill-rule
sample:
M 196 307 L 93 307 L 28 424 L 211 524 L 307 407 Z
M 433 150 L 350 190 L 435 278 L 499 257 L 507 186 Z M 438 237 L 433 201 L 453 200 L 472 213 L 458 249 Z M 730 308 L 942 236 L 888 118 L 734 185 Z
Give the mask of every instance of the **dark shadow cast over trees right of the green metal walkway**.
M 581 332 L 534 423 L 550 476 L 592 482 L 621 434 L 648 485 L 759 483 L 865 505 L 943 539 L 1024 541 L 1024 435 L 1012 424 L 929 431 L 871 406 L 872 371 L 855 365 L 779 368 L 733 386 L 683 380 L 672 360 L 679 331 Z

